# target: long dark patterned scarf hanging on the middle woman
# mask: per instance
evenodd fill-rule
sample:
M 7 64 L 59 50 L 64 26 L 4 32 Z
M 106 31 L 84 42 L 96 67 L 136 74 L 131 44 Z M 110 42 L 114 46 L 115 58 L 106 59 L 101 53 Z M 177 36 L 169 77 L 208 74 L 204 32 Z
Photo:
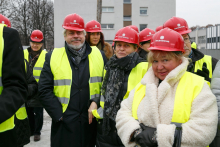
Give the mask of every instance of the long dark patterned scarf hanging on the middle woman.
M 123 97 L 119 97 L 119 92 L 122 90 L 125 71 L 130 69 L 132 63 L 135 63 L 134 55 L 131 53 L 126 57 L 118 59 L 113 55 L 105 66 L 106 75 L 102 85 L 102 95 L 105 98 L 104 117 L 103 117 L 103 133 L 108 134 L 110 131 L 110 120 L 115 121 L 118 110 L 120 109 Z

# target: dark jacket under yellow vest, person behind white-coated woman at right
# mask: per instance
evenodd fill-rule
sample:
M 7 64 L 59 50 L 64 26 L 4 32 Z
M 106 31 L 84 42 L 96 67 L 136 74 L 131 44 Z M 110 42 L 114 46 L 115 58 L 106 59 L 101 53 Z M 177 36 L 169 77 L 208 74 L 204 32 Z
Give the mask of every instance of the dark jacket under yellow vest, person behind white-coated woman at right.
M 192 48 L 192 63 L 190 63 L 190 64 L 193 64 L 193 66 L 191 65 L 192 67 L 188 68 L 187 71 L 191 72 L 192 68 L 194 69 L 194 67 L 195 67 L 196 61 L 202 59 L 203 57 L 204 57 L 204 54 L 202 52 L 200 52 L 198 49 Z M 217 62 L 218 62 L 218 59 L 212 57 L 212 73 L 215 70 L 215 66 L 216 66 Z M 189 64 L 189 66 L 190 66 L 190 64 Z

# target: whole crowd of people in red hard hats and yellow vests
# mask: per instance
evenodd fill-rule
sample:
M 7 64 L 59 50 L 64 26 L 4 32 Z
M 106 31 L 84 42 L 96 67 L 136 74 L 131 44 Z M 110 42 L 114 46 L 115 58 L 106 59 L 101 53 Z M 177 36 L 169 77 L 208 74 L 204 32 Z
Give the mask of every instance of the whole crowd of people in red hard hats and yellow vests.
M 51 147 L 220 146 L 220 62 L 186 20 L 123 27 L 112 45 L 76 13 L 62 27 L 63 47 L 47 52 L 33 30 L 23 50 L 0 14 L 0 147 L 40 141 L 44 109 Z

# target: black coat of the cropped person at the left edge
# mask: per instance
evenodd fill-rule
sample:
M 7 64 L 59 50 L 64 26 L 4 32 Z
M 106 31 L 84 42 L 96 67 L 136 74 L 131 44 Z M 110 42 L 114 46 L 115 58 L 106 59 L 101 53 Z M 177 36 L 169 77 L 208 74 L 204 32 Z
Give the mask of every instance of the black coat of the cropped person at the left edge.
M 4 27 L 3 38 L 3 91 L 0 95 L 0 123 L 16 113 L 25 103 L 28 94 L 28 86 L 25 78 L 24 53 L 19 34 L 15 29 Z M 16 147 L 17 137 L 15 129 L 0 133 L 0 146 Z

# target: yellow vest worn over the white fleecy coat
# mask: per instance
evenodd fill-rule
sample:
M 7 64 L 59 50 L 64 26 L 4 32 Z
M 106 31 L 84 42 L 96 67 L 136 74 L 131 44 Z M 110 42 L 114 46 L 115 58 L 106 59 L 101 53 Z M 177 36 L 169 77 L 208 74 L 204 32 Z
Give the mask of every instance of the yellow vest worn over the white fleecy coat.
M 190 86 L 189 86 L 190 85 Z M 172 123 L 185 123 L 190 118 L 192 102 L 201 92 L 204 85 L 204 78 L 185 72 L 177 86 L 173 108 Z M 135 87 L 135 94 L 132 103 L 132 116 L 138 119 L 137 109 L 145 96 L 146 85 L 138 84 Z

